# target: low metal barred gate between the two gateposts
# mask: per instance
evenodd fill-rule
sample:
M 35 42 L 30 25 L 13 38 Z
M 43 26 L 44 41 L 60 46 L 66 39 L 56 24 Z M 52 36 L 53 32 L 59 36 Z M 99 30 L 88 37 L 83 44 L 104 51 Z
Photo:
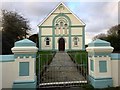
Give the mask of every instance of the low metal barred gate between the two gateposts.
M 39 88 L 81 86 L 87 83 L 87 53 L 57 52 L 37 56 Z

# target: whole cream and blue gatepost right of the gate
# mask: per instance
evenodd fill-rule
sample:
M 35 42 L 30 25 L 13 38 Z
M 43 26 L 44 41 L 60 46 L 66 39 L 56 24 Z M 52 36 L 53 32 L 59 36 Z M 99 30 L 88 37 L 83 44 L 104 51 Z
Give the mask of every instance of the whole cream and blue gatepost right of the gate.
M 96 39 L 88 44 L 89 81 L 94 88 L 107 88 L 113 86 L 111 74 L 111 52 L 113 47 L 110 43 Z

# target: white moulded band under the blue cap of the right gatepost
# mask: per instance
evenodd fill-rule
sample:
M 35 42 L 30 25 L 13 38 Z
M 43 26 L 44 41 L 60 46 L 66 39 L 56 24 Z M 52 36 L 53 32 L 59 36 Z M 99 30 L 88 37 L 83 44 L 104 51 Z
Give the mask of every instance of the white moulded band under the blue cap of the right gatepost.
M 113 47 L 111 46 L 105 46 L 105 47 L 87 47 L 87 52 L 109 52 L 111 53 L 113 51 Z

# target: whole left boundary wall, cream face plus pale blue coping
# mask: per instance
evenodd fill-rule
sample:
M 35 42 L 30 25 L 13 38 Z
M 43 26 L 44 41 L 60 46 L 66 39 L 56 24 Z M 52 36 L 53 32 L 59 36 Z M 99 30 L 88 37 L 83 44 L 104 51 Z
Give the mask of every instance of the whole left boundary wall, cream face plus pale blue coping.
M 13 81 L 17 77 L 14 55 L 0 55 L 2 60 L 2 88 L 12 88 Z

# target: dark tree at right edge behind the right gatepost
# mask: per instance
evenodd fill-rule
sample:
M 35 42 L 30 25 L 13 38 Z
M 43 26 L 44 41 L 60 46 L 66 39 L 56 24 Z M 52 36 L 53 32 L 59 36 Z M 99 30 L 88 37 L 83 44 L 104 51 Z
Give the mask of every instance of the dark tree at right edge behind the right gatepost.
M 110 42 L 111 46 L 114 47 L 114 52 L 120 52 L 120 24 L 111 27 L 107 31 L 107 34 L 99 34 L 93 39 L 97 38 Z

